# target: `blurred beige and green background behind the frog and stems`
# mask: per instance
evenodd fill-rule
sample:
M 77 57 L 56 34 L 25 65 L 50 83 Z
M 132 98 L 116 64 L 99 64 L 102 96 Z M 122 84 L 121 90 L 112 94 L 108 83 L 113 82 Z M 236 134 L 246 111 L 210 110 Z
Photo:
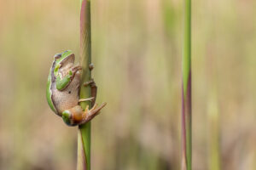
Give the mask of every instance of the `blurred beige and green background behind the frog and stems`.
M 192 3 L 193 167 L 256 169 L 256 1 Z M 92 0 L 91 17 L 92 169 L 179 169 L 183 1 Z M 0 169 L 75 169 L 45 88 L 53 55 L 79 54 L 79 1 L 1 1 L 0 23 Z

